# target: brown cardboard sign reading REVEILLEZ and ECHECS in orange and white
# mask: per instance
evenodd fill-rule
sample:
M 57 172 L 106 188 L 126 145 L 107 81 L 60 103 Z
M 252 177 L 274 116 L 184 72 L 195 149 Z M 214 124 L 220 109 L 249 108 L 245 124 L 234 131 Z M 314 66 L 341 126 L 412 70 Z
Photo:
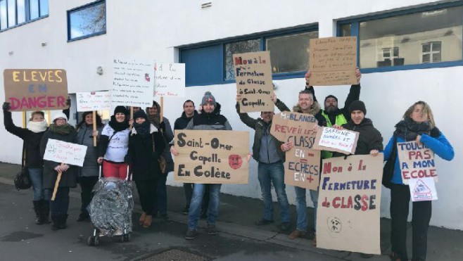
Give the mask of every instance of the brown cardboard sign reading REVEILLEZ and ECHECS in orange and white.
M 286 151 L 284 183 L 317 190 L 320 170 L 320 151 L 312 150 L 317 132 L 317 120 L 307 113 L 282 112 L 273 116 L 270 134 L 282 142 L 292 142 Z

